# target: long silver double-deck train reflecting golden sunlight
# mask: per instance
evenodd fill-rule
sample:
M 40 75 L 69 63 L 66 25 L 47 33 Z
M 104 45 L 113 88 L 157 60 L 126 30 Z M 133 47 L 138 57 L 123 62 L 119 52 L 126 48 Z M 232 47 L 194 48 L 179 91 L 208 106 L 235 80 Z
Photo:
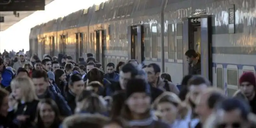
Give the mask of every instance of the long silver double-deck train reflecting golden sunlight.
M 255 73 L 255 7 L 253 0 L 108 0 L 31 28 L 30 53 L 74 61 L 92 53 L 103 69 L 130 59 L 157 63 L 180 84 L 184 54 L 194 49 L 202 75 L 232 95 L 239 76 Z

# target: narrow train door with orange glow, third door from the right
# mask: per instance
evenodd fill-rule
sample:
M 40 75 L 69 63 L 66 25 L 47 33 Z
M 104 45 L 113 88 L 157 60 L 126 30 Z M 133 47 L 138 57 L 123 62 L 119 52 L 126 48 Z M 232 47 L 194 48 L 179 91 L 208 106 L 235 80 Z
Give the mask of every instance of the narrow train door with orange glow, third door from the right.
M 102 69 L 105 69 L 104 61 L 104 44 L 105 44 L 105 30 L 96 30 L 96 60 L 102 64 Z

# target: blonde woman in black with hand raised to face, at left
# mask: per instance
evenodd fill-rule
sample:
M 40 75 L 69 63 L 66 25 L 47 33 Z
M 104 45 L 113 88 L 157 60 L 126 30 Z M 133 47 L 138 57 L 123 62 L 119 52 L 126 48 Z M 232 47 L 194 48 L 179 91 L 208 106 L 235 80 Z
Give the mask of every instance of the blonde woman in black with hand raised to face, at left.
M 32 127 L 36 117 L 38 98 L 35 86 L 29 77 L 17 77 L 11 82 L 12 95 L 17 101 L 14 106 L 14 115 L 20 122 L 21 128 Z

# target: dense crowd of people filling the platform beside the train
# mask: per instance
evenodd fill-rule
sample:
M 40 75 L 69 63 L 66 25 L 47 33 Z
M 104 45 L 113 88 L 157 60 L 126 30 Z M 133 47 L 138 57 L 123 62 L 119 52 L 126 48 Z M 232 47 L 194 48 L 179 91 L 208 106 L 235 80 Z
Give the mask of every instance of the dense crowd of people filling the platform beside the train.
M 200 75 L 177 86 L 156 63 L 102 69 L 91 53 L 77 63 L 24 50 L 1 56 L 0 128 L 256 128 L 252 72 L 227 97 Z

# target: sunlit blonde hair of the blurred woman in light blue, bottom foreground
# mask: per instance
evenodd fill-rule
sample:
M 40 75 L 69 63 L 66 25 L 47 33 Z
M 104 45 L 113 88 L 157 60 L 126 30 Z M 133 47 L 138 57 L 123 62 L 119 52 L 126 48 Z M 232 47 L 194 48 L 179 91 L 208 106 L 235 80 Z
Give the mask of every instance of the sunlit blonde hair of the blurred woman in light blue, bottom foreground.
M 164 92 L 158 96 L 152 104 L 152 108 L 156 110 L 157 105 L 164 102 L 171 103 L 177 107 L 178 115 L 181 117 L 181 119 L 184 119 L 188 115 L 190 107 L 186 103 L 182 102 L 180 98 L 173 92 Z M 160 114 L 157 114 L 156 116 L 161 117 Z

